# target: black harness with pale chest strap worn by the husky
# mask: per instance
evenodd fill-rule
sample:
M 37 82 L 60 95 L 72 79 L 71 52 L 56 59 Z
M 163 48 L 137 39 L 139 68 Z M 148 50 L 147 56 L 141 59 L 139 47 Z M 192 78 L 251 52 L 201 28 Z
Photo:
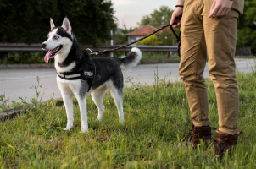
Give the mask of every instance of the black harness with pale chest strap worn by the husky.
M 81 70 L 73 71 L 73 72 L 57 72 L 58 77 L 61 79 L 67 79 L 67 80 L 75 80 L 75 79 L 81 79 L 84 81 L 87 81 L 89 88 L 88 91 L 92 87 L 92 82 L 95 76 L 95 64 L 93 63 L 92 59 L 89 57 L 88 53 L 86 51 L 83 51 L 83 56 L 86 59 L 86 62 L 84 64 L 84 67 Z

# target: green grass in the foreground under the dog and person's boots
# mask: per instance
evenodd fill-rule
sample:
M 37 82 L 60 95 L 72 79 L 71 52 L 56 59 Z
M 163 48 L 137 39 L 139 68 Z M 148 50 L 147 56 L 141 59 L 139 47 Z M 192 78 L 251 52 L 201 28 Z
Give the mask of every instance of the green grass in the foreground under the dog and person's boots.
M 125 123 L 118 122 L 114 101 L 106 95 L 103 121 L 87 97 L 89 132 L 81 134 L 75 103 L 75 122 L 64 131 L 63 101 L 50 100 L 14 119 L 0 122 L 0 168 L 255 168 L 256 73 L 237 74 L 240 93 L 239 137 L 231 157 L 218 161 L 204 156 L 206 147 L 192 149 L 182 141 L 191 119 L 181 83 L 160 80 L 156 85 L 125 88 Z M 209 116 L 218 126 L 214 86 L 207 81 Z M 213 131 L 214 134 L 214 131 Z

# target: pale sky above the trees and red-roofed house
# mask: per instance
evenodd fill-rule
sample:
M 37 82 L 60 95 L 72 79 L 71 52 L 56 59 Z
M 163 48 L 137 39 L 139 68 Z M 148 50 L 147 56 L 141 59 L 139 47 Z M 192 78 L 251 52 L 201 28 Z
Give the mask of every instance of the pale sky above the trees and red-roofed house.
M 134 28 L 143 16 L 159 10 L 161 6 L 175 9 L 177 0 L 111 0 L 114 3 L 114 16 L 118 19 L 118 27 Z

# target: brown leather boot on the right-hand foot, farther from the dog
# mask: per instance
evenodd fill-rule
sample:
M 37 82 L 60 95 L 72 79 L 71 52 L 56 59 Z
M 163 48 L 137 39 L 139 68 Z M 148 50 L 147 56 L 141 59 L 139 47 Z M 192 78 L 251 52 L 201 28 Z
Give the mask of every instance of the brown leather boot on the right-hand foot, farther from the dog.
M 237 139 L 241 134 L 242 132 L 238 132 L 236 135 L 225 134 L 217 130 L 216 140 L 214 140 L 214 154 L 219 155 L 221 159 L 225 151 L 229 150 L 231 152 L 237 146 Z

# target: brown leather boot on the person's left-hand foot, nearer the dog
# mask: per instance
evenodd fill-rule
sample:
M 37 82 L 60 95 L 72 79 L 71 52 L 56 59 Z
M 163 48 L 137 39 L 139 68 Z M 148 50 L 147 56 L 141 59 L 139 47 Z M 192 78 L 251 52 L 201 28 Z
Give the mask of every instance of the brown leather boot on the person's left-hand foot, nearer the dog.
M 210 126 L 202 126 L 196 127 L 192 124 L 192 129 L 189 131 L 189 136 L 185 141 L 186 146 L 189 143 L 192 143 L 193 146 L 200 144 L 200 140 L 203 140 L 203 143 L 209 145 L 212 141 L 212 134 L 211 134 L 211 127 Z

